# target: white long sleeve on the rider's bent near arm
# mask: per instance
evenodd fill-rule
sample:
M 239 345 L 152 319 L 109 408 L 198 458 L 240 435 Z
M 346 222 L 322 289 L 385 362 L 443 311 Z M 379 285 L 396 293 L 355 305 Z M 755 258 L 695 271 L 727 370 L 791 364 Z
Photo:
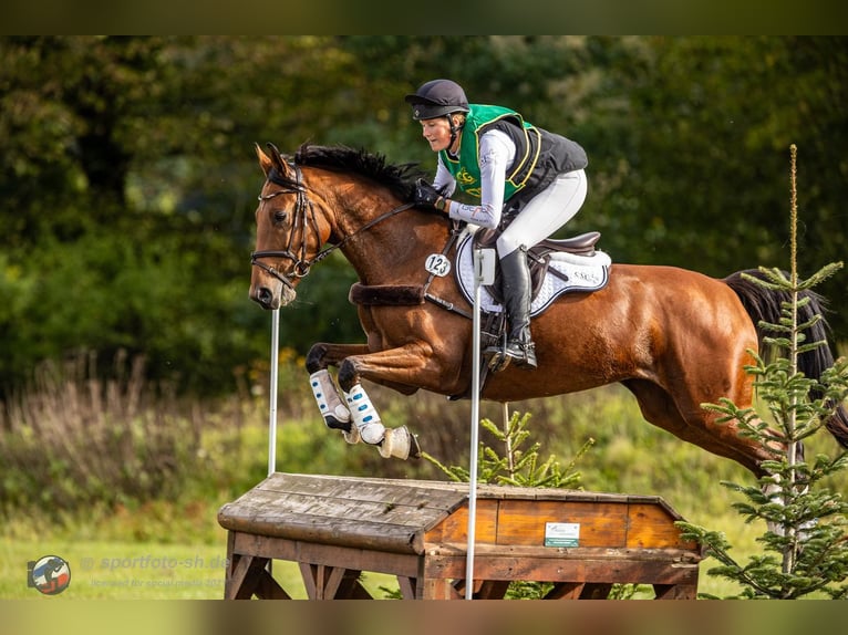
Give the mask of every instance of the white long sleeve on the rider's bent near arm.
M 480 204 L 465 205 L 452 200 L 448 216 L 488 229 L 497 227 L 504 209 L 506 169 L 513 165 L 515 154 L 515 144 L 506 133 L 489 131 L 484 134 L 477 158 L 480 168 Z

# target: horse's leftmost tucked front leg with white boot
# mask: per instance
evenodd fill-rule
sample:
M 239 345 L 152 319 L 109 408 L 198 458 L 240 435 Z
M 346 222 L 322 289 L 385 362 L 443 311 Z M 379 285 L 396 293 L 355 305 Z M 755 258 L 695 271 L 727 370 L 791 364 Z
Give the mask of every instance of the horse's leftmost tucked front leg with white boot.
M 363 355 L 369 352 L 366 344 L 313 344 L 307 354 L 309 386 L 318 404 L 318 409 L 328 428 L 341 430 L 349 444 L 359 441 L 359 429 L 351 426 L 351 413 L 339 395 L 328 367 L 338 366 L 350 355 Z

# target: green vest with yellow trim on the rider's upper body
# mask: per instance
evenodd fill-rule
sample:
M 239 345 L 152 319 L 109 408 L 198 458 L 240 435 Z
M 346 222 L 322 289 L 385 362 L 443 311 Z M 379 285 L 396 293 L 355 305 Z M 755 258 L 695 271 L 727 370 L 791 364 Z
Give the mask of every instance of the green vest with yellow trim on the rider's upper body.
M 507 173 L 504 187 L 504 200 L 520 190 L 530 178 L 539 160 L 541 133 L 536 126 L 524 121 L 517 112 L 501 106 L 470 104 L 470 112 L 462 131 L 459 156 L 451 158 L 446 150 L 441 150 L 442 163 L 456 179 L 461 190 L 480 198 L 480 167 L 478 163 L 480 136 L 487 129 L 497 128 L 506 132 L 516 143 L 515 165 Z

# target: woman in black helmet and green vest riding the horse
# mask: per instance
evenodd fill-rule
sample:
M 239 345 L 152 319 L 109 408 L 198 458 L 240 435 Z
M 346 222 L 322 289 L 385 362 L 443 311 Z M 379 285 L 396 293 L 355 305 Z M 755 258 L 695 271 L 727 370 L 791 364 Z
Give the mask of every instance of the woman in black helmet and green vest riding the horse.
M 405 101 L 438 153 L 433 185 L 418 180 L 415 201 L 452 219 L 503 229 L 497 253 L 509 335 L 505 350 L 489 346 L 484 354 L 535 368 L 527 250 L 568 222 L 586 200 L 586 152 L 515 111 L 469 104 L 451 80 L 426 82 Z M 451 200 L 457 186 L 479 205 Z

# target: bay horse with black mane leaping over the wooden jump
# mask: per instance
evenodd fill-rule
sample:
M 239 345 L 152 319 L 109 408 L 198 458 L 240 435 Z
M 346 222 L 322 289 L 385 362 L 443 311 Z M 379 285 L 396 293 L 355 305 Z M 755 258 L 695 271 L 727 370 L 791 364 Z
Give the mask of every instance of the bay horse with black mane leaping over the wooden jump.
M 289 304 L 311 266 L 340 250 L 359 277 L 351 299 L 366 341 L 312 345 L 306 365 L 318 406 L 349 443 L 374 444 L 384 457 L 416 457 L 416 438 L 405 427 L 383 433 L 362 382 L 404 395 L 468 394 L 472 304 L 452 277 L 425 270 L 434 253 L 454 258 L 456 227 L 410 202 L 420 176 L 410 164 L 389 165 L 382 155 L 343 146 L 304 144 L 293 157 L 267 147 L 269 153 L 256 146 L 266 180 L 256 209 L 250 298 L 269 310 Z M 803 311 L 820 314 L 823 299 L 808 296 Z M 538 368 L 511 365 L 495 373 L 480 397 L 506 403 L 620 383 L 648 421 L 765 476 L 761 466 L 774 458 L 769 448 L 740 436 L 733 421 L 717 423 L 720 415 L 702 404 L 726 397 L 751 406 L 748 351 L 762 342 L 761 321 L 779 322 L 782 300 L 742 272 L 721 280 L 674 267 L 614 263 L 606 287 L 562 295 L 534 318 Z M 824 341 L 826 326 L 824 320 L 814 324 L 807 341 Z M 802 355 L 800 365 L 818 378 L 833 354 L 819 346 Z M 827 428 L 848 447 L 844 405 Z

